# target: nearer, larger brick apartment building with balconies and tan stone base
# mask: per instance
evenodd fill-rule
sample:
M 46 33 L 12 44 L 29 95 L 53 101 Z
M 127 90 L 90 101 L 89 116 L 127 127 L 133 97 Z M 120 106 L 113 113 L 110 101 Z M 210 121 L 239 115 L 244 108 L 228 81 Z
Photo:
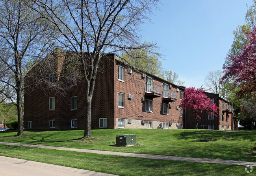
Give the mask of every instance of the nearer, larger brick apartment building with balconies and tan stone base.
M 63 63 L 63 62 L 58 62 Z M 184 87 L 135 70 L 114 54 L 101 60 L 91 109 L 91 128 L 183 128 L 178 105 Z M 62 66 L 58 65 L 58 72 Z M 49 81 L 56 78 L 50 73 Z M 67 84 L 70 84 L 67 83 Z M 85 83 L 71 80 L 66 98 L 38 88 L 24 94 L 25 129 L 84 129 Z

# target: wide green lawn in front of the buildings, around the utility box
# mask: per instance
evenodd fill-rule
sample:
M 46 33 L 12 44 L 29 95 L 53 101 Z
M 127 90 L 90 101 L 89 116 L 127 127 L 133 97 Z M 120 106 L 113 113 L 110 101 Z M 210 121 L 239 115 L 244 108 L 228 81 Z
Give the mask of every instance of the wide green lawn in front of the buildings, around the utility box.
M 194 158 L 256 161 L 250 156 L 255 147 L 256 131 L 224 130 L 163 130 L 163 129 L 102 129 L 92 130 L 93 138 L 81 139 L 83 130 L 0 132 L 0 141 L 50 145 L 70 148 L 86 148 L 119 152 L 184 156 Z M 132 147 L 113 147 L 117 134 L 135 134 Z M 212 142 L 199 142 L 212 139 Z

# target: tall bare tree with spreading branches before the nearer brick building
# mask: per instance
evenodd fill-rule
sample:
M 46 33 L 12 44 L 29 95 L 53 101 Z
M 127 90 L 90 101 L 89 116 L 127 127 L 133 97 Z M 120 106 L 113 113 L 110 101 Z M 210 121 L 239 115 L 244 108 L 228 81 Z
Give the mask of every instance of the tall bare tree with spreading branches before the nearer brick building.
M 76 53 L 85 79 L 85 132 L 91 137 L 91 100 L 100 59 L 130 49 L 151 51 L 156 46 L 140 41 L 139 26 L 159 0 L 32 0 L 33 10 L 59 32 L 63 49 Z M 46 14 L 47 13 L 47 14 Z M 59 25 L 61 24 L 61 26 Z M 143 43 L 143 44 L 141 44 Z

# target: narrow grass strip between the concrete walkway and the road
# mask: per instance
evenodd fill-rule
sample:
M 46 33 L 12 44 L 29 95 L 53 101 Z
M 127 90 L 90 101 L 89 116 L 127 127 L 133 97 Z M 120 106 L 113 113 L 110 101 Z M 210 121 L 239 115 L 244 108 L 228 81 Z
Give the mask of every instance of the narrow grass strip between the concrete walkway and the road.
M 127 147 L 129 148 L 129 147 Z M 122 176 L 245 176 L 244 166 L 99 155 L 0 145 L 0 155 Z

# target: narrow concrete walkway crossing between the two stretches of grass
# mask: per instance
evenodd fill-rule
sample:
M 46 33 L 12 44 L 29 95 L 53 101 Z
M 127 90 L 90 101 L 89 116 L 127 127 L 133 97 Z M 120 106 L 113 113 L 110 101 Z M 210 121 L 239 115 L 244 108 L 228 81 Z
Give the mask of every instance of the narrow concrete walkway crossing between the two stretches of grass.
M 197 162 L 197 163 L 217 163 L 217 164 L 256 166 L 256 162 L 249 162 L 249 161 L 234 161 L 234 160 L 223 160 L 223 159 L 190 158 L 190 157 L 179 157 L 179 156 L 165 156 L 165 155 L 111 152 L 111 151 L 102 151 L 102 150 L 89 150 L 89 149 L 66 148 L 66 147 L 52 147 L 52 146 L 47 146 L 47 145 L 31 145 L 31 144 L 8 143 L 8 142 L 0 142 L 0 144 L 17 145 L 17 146 L 24 146 L 24 147 L 47 148 L 47 149 L 55 149 L 55 150 L 68 150 L 68 151 L 74 151 L 74 152 L 86 152 L 86 153 L 95 153 L 95 154 L 103 154 L 103 155 L 129 156 L 129 157 L 136 157 L 136 158 L 163 159 L 163 160 L 187 161 L 187 162 Z

